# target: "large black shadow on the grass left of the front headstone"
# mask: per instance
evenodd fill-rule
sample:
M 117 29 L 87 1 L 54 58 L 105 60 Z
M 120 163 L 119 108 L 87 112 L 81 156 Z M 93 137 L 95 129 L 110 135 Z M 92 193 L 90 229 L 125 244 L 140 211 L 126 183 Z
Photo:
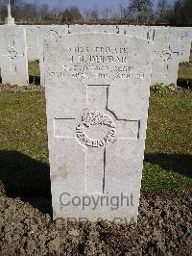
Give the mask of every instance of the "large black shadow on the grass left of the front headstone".
M 0 151 L 0 181 L 8 197 L 20 197 L 52 214 L 49 166 L 16 151 Z

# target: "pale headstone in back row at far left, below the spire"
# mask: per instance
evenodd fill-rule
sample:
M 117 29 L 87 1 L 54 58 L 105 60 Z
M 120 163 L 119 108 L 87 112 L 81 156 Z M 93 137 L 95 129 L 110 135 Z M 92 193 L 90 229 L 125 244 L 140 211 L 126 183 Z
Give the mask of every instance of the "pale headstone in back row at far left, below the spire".
M 25 29 L 16 25 L 1 27 L 0 67 L 3 84 L 29 84 Z

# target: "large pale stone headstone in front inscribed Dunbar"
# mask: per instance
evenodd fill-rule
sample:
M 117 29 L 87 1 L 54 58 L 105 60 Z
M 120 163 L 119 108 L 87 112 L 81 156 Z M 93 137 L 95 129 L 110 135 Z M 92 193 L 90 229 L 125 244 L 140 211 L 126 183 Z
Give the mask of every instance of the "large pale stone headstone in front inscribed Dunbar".
M 137 220 L 152 51 L 115 34 L 45 41 L 54 218 Z

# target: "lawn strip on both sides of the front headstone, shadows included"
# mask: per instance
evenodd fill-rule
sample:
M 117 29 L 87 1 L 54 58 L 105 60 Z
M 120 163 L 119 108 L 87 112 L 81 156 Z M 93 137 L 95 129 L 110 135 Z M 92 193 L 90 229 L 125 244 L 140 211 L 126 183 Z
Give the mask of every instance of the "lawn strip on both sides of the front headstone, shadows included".
M 192 188 L 192 93 L 152 93 L 142 190 Z M 0 91 L 0 179 L 10 193 L 50 190 L 44 91 Z M 21 186 L 22 184 L 22 186 Z

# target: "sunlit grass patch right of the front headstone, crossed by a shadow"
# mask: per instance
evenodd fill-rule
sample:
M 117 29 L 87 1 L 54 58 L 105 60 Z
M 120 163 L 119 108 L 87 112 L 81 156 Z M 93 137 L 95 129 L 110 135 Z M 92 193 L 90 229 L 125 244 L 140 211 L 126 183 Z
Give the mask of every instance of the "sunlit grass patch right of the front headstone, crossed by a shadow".
M 192 94 L 152 94 L 144 190 L 192 188 Z

